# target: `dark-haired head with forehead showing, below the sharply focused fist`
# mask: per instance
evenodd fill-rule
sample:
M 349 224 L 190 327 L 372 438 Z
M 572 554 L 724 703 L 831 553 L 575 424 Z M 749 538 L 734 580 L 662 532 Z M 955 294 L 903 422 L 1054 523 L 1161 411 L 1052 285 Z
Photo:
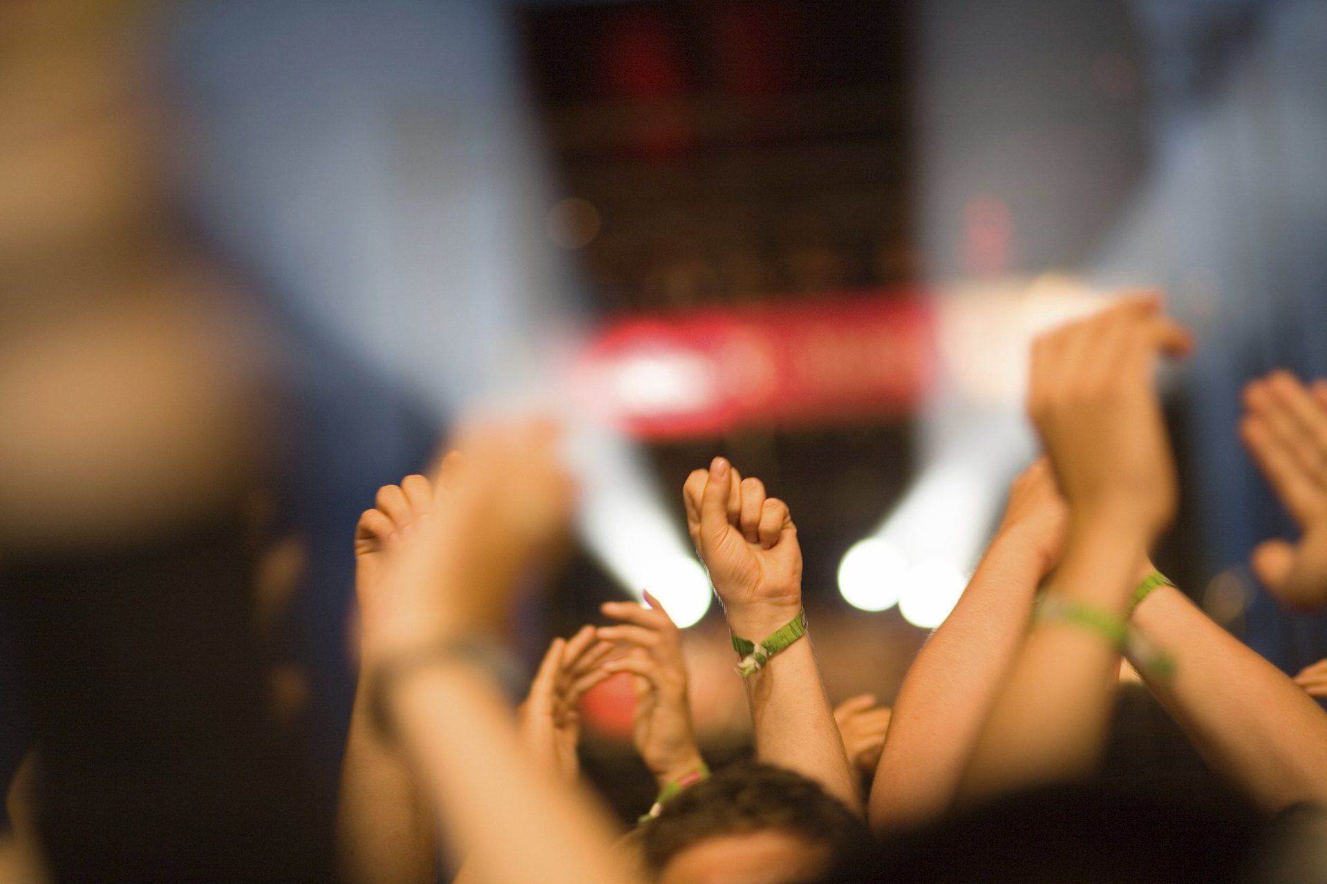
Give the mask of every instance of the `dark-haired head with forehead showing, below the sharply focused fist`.
M 735 871 L 725 865 L 755 863 L 772 883 L 819 876 L 865 836 L 863 820 L 819 783 L 743 762 L 669 802 L 642 842 L 646 865 L 665 881 L 722 881 Z

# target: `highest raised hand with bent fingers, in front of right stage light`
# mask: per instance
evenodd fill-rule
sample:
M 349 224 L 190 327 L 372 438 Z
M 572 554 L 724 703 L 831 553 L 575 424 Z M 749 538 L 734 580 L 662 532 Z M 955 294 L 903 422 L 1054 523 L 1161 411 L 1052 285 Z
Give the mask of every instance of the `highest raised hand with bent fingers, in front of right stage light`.
M 1169 525 L 1177 486 L 1153 372 L 1158 353 L 1190 347 L 1152 296 L 1032 345 L 1028 412 L 1075 518 L 1105 517 L 1145 545 Z

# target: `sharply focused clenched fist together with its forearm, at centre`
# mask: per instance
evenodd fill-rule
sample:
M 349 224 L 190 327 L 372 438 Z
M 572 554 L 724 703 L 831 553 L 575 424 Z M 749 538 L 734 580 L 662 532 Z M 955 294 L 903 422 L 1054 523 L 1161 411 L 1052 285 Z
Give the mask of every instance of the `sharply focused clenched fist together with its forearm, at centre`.
M 697 469 L 683 488 L 687 530 L 723 602 L 734 635 L 760 641 L 802 608 L 802 550 L 788 506 L 766 497 L 722 457 Z M 819 782 L 852 808 L 857 778 L 835 724 L 811 637 L 775 655 L 746 679 L 756 758 Z

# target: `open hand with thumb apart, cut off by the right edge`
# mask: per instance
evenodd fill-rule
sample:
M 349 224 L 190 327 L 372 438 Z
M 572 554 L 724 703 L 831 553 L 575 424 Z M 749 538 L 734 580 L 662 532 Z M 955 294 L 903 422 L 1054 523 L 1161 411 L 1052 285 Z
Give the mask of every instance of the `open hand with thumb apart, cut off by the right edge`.
M 1274 371 L 1245 387 L 1239 435 L 1299 525 L 1296 543 L 1271 539 L 1253 570 L 1286 604 L 1327 604 L 1327 380 L 1304 386 Z

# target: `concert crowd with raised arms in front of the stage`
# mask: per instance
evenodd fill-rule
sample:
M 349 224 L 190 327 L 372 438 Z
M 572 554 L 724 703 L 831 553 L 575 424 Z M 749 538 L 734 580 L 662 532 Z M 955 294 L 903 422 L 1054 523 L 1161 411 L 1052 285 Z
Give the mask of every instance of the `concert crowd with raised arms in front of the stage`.
M 1157 374 L 1204 346 L 1162 293 L 1032 343 L 1040 453 L 889 705 L 827 692 L 779 489 L 694 464 L 674 500 L 754 734 L 707 759 L 649 586 L 532 672 L 518 653 L 577 513 L 557 417 L 462 415 L 353 508 L 289 481 L 372 455 L 311 468 L 289 378 L 316 357 L 178 204 L 146 5 L 0 7 L 0 737 L 21 758 L 0 880 L 1327 880 L 1327 660 L 1287 676 L 1153 563 L 1181 490 Z M 1327 379 L 1230 395 L 1226 432 L 1299 529 L 1250 567 L 1327 608 Z M 358 512 L 353 535 L 292 529 L 325 508 Z M 287 652 L 325 547 L 356 596 L 330 795 Z M 581 701 L 612 679 L 653 778 L 630 826 L 581 770 Z

